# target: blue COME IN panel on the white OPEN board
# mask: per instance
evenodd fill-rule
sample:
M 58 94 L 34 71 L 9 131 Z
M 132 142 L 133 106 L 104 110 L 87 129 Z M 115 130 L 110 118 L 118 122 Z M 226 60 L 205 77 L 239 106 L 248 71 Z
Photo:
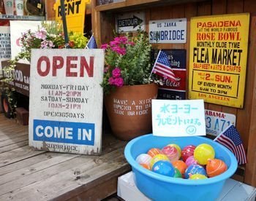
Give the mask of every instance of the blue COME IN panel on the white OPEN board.
M 34 119 L 33 140 L 94 146 L 95 125 Z

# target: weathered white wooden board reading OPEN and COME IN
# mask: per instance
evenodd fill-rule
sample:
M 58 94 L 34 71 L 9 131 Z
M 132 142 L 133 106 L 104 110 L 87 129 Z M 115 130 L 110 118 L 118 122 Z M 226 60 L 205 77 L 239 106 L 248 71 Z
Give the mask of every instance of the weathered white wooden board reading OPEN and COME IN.
M 104 50 L 32 50 L 29 146 L 100 154 Z

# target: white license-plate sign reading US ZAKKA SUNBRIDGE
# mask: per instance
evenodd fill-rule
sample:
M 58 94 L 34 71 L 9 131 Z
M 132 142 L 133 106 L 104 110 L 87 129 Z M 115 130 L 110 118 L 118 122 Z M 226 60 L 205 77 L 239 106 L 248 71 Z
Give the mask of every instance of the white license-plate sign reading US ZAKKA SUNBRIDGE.
M 187 42 L 187 18 L 150 20 L 148 25 L 150 43 Z

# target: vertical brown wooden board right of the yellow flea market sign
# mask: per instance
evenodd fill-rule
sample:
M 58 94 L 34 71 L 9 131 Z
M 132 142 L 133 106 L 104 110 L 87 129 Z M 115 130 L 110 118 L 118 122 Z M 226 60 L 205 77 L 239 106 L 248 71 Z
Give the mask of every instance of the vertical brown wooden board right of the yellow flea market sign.
M 247 59 L 247 71 L 246 71 L 246 96 L 245 100 L 251 102 L 248 108 L 247 116 L 249 118 L 244 119 L 244 124 L 249 125 L 248 133 L 248 145 L 247 145 L 247 159 L 245 169 L 244 182 L 246 184 L 256 187 L 256 1 L 245 0 L 244 12 L 250 12 L 250 32 L 249 32 L 249 54 Z M 244 114 L 246 115 L 246 114 Z M 246 120 L 248 120 L 246 122 Z

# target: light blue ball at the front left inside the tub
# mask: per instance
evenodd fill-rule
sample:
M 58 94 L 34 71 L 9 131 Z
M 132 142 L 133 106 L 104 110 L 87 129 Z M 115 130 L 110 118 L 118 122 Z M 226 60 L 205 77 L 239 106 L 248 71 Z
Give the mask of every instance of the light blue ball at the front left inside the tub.
M 152 171 L 154 173 L 159 173 L 160 175 L 170 176 L 170 177 L 173 177 L 175 174 L 175 168 L 170 163 L 170 161 L 166 161 L 166 160 L 159 160 L 155 162 L 152 167 Z

